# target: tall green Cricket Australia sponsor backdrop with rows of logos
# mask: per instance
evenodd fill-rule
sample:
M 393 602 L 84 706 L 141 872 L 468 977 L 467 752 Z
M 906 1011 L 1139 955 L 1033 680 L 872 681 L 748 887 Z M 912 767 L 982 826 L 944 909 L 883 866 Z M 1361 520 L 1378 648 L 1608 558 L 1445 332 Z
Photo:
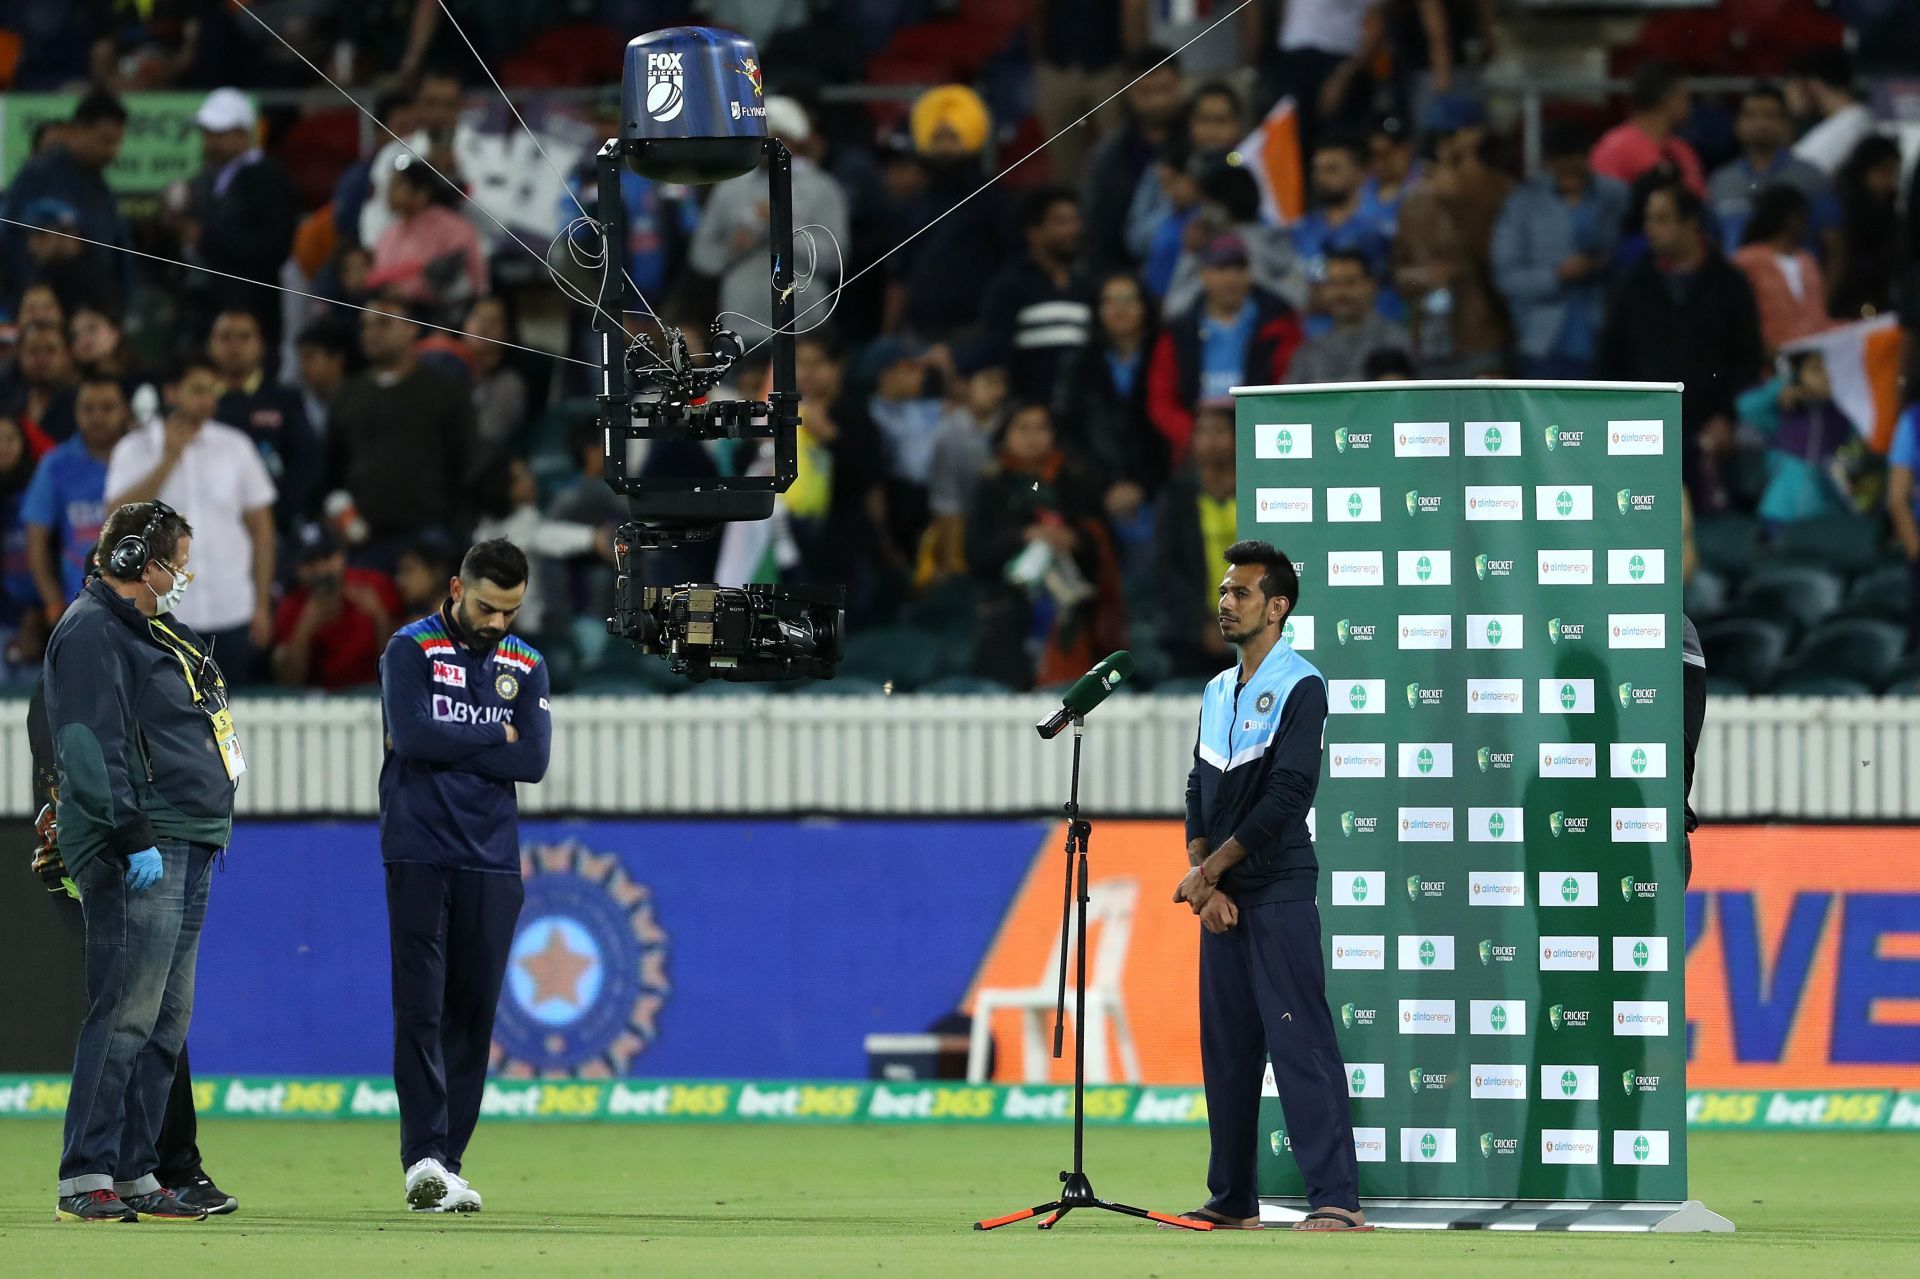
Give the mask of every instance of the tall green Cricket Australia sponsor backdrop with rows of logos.
M 1327 676 L 1327 997 L 1369 1196 L 1686 1198 L 1680 396 L 1238 399 Z M 1261 1193 L 1302 1195 L 1263 1102 Z

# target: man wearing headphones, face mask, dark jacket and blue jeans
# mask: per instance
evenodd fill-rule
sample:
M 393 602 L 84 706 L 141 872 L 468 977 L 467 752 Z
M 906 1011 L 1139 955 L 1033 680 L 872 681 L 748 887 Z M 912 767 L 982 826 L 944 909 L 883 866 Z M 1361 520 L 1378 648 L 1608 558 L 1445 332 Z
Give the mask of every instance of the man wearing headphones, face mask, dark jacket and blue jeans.
M 102 572 L 46 645 L 60 853 L 86 922 L 86 1020 L 73 1052 L 61 1221 L 198 1221 L 156 1175 L 156 1141 L 194 1008 L 213 858 L 246 772 L 227 682 L 173 616 L 194 530 L 161 501 L 100 530 Z

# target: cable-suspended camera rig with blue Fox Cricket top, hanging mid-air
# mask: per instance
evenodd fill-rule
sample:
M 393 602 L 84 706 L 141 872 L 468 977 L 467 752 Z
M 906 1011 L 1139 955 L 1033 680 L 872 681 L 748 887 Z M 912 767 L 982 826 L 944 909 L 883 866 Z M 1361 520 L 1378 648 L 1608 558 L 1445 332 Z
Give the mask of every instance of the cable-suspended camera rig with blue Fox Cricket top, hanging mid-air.
M 651 313 L 626 265 L 622 165 L 685 184 L 720 182 L 760 161 L 768 173 L 768 244 L 774 330 L 766 340 L 774 390 L 766 399 L 708 399 L 745 346 L 718 321 L 708 351 L 693 353 L 678 328 L 630 328 Z M 766 520 L 793 484 L 801 396 L 793 373 L 793 157 L 766 136 L 766 102 L 753 40 L 708 27 L 668 27 L 626 46 L 620 136 L 597 156 L 599 246 L 593 328 L 601 340 L 607 482 L 628 499 L 614 534 L 614 615 L 609 632 L 664 655 L 695 682 L 831 678 L 845 641 L 841 588 L 647 586 L 637 551 L 714 538 L 735 520 Z M 659 323 L 657 317 L 653 323 Z M 762 440 L 770 465 L 749 474 L 641 474 L 634 442 Z

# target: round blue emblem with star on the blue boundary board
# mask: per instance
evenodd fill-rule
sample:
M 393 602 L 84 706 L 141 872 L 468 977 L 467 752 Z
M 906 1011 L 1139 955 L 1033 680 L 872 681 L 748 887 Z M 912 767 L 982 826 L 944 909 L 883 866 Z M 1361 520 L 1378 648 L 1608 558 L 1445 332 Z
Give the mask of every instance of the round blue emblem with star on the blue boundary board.
M 520 847 L 526 905 L 493 1024 L 501 1077 L 620 1077 L 659 1037 L 672 985 L 653 891 L 578 841 Z

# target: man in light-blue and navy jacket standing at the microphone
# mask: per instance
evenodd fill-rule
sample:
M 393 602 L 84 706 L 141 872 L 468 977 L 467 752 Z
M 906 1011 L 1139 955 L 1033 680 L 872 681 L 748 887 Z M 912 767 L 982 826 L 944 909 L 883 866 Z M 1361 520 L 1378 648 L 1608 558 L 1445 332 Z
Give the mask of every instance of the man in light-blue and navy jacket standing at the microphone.
M 1327 680 L 1281 638 L 1300 599 L 1292 561 L 1265 542 L 1227 547 L 1219 632 L 1240 649 L 1200 701 L 1187 776 L 1187 878 L 1173 901 L 1200 916 L 1204 1208 L 1185 1216 L 1260 1229 L 1256 1164 L 1267 1058 L 1308 1185 L 1294 1229 L 1373 1229 L 1359 1212 L 1346 1066 L 1327 1012 L 1319 862 L 1308 814 L 1327 737 Z

